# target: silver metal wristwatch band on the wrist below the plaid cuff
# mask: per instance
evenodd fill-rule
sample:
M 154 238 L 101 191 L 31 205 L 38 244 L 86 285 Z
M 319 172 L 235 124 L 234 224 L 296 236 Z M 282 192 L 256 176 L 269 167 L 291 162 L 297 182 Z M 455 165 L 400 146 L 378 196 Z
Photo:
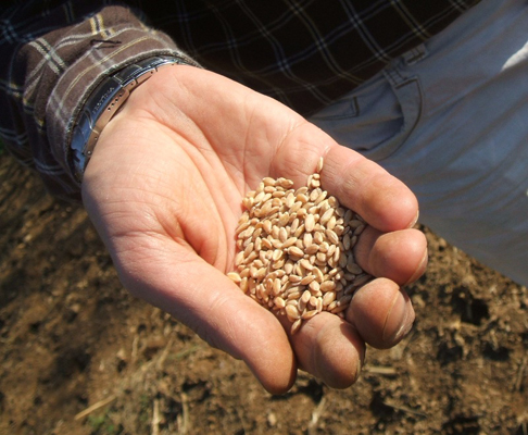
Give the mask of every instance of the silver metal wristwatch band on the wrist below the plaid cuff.
M 189 64 L 189 62 L 171 55 L 144 59 L 106 77 L 91 92 L 72 132 L 71 161 L 77 182 L 83 181 L 99 135 L 130 92 L 161 67 L 176 64 Z

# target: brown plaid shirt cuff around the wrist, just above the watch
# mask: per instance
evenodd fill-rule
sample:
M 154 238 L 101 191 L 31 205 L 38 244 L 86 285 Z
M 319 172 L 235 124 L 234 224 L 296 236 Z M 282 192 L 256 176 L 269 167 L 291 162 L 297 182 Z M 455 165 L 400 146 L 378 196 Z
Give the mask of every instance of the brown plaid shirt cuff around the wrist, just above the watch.
M 128 20 L 124 20 L 123 14 L 127 14 Z M 78 26 L 92 27 L 95 18 L 97 15 Z M 180 63 L 199 66 L 165 34 L 146 27 L 125 8 L 106 8 L 104 23 L 105 32 L 100 30 L 84 40 L 86 49 L 60 76 L 46 108 L 51 152 L 68 175 L 66 184 L 70 186 L 64 187 L 77 198 L 79 185 L 68 158 L 70 142 L 75 122 L 93 89 L 127 65 L 155 55 L 172 55 Z M 74 32 L 83 33 L 81 29 Z

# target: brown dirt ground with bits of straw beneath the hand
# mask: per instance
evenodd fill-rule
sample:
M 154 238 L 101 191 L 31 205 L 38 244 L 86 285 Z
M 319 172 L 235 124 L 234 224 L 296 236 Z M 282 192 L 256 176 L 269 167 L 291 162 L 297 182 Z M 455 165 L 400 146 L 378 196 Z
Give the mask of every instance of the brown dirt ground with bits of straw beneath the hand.
M 416 323 L 334 390 L 267 394 L 129 296 L 85 211 L 0 157 L 0 434 L 528 434 L 528 291 L 424 228 Z

